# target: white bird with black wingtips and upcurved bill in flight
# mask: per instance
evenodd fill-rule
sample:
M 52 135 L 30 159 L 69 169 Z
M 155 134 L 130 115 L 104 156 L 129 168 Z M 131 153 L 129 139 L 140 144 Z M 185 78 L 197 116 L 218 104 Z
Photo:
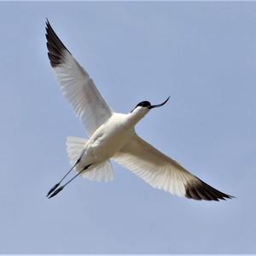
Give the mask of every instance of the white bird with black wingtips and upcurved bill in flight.
M 143 101 L 130 113 L 116 113 L 108 106 L 89 74 L 61 42 L 49 20 L 46 21 L 46 39 L 55 77 L 89 135 L 89 138 L 67 137 L 67 154 L 72 168 L 49 190 L 48 198 L 57 195 L 79 175 L 95 181 L 112 180 L 110 160 L 130 169 L 152 187 L 173 195 L 207 201 L 233 197 L 204 183 L 137 135 L 137 123 L 152 109 L 165 105 L 169 97 L 160 104 Z M 73 170 L 76 174 L 61 185 Z

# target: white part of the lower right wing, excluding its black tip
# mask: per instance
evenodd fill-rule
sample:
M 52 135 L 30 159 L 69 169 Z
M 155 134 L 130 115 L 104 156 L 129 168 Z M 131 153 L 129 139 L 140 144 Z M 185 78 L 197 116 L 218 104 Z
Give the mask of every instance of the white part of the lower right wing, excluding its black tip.
M 168 158 L 142 138 L 135 135 L 113 160 L 142 177 L 156 189 L 164 189 L 174 195 L 185 195 L 185 184 L 194 178 L 189 172 Z

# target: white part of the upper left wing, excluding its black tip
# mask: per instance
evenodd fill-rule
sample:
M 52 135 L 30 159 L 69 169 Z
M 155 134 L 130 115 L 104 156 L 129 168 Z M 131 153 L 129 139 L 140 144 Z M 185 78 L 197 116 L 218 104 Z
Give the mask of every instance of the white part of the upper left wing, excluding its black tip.
M 96 85 L 86 71 L 79 66 L 67 50 L 64 62 L 54 68 L 61 90 L 73 105 L 89 136 L 112 115 Z

